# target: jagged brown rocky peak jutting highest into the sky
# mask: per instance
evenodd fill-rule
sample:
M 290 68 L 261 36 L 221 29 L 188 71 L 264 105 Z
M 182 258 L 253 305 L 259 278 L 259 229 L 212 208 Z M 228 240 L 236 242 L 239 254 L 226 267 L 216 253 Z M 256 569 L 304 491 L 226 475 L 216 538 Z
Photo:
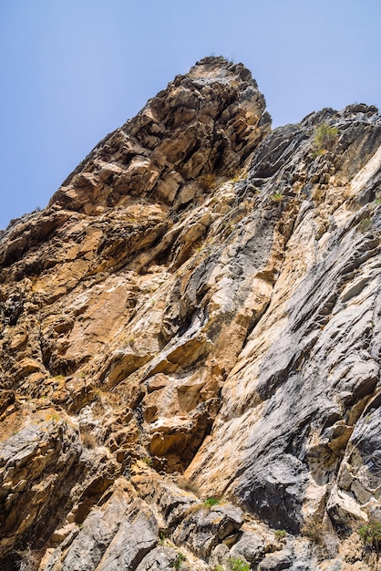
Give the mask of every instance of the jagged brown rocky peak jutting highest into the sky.
M 102 140 L 49 205 L 99 213 L 136 189 L 174 202 L 200 176 L 240 169 L 270 128 L 250 71 L 206 57 Z

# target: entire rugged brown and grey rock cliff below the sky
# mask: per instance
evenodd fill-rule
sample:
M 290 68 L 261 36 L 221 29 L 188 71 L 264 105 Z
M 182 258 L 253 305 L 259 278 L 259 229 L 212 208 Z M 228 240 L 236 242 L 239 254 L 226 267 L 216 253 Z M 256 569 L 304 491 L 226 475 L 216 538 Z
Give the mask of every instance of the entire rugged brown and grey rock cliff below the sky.
M 1 568 L 376 569 L 380 202 L 376 108 L 207 57 L 13 221 Z

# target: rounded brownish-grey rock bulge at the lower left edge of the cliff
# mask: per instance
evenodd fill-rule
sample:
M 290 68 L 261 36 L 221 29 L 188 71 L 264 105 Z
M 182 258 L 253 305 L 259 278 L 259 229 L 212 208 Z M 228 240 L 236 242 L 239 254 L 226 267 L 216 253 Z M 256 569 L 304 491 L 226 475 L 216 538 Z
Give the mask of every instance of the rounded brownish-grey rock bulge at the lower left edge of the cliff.
M 54 529 L 80 453 L 63 420 L 29 424 L 0 444 L 0 557 L 31 529 L 42 536 Z

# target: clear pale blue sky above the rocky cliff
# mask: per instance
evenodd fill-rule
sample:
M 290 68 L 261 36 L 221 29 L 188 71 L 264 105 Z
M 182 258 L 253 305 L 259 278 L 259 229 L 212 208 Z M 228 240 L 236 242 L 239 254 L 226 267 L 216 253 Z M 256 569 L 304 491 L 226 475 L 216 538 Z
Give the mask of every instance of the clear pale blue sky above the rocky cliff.
M 242 61 L 273 126 L 381 107 L 381 0 L 0 0 L 0 228 L 201 57 Z

